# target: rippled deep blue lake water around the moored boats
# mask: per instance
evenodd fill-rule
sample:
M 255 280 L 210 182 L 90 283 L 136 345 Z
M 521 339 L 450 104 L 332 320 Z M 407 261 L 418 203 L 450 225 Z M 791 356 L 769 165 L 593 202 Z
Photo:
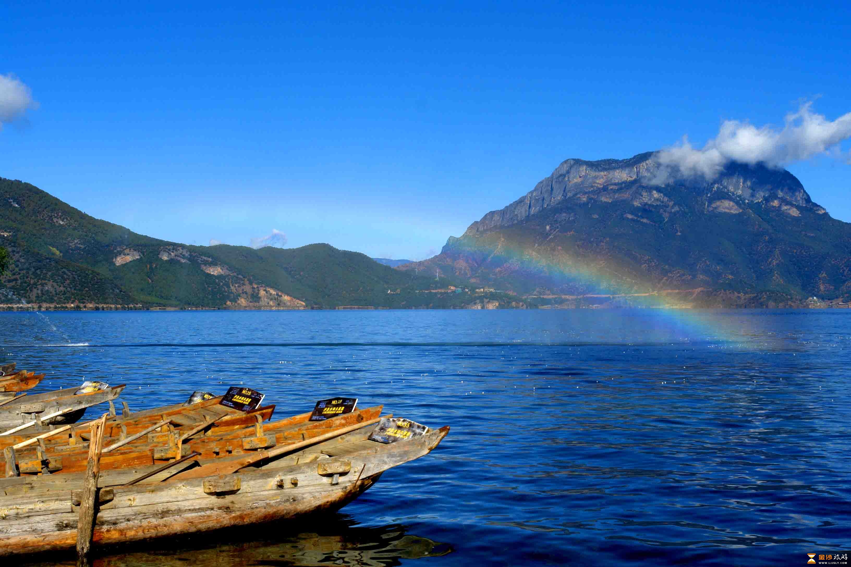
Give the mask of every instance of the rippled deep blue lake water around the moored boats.
M 346 395 L 452 428 L 339 513 L 102 565 L 805 564 L 851 548 L 849 339 L 840 309 L 0 314 L 34 391 L 242 383 L 276 418 Z

